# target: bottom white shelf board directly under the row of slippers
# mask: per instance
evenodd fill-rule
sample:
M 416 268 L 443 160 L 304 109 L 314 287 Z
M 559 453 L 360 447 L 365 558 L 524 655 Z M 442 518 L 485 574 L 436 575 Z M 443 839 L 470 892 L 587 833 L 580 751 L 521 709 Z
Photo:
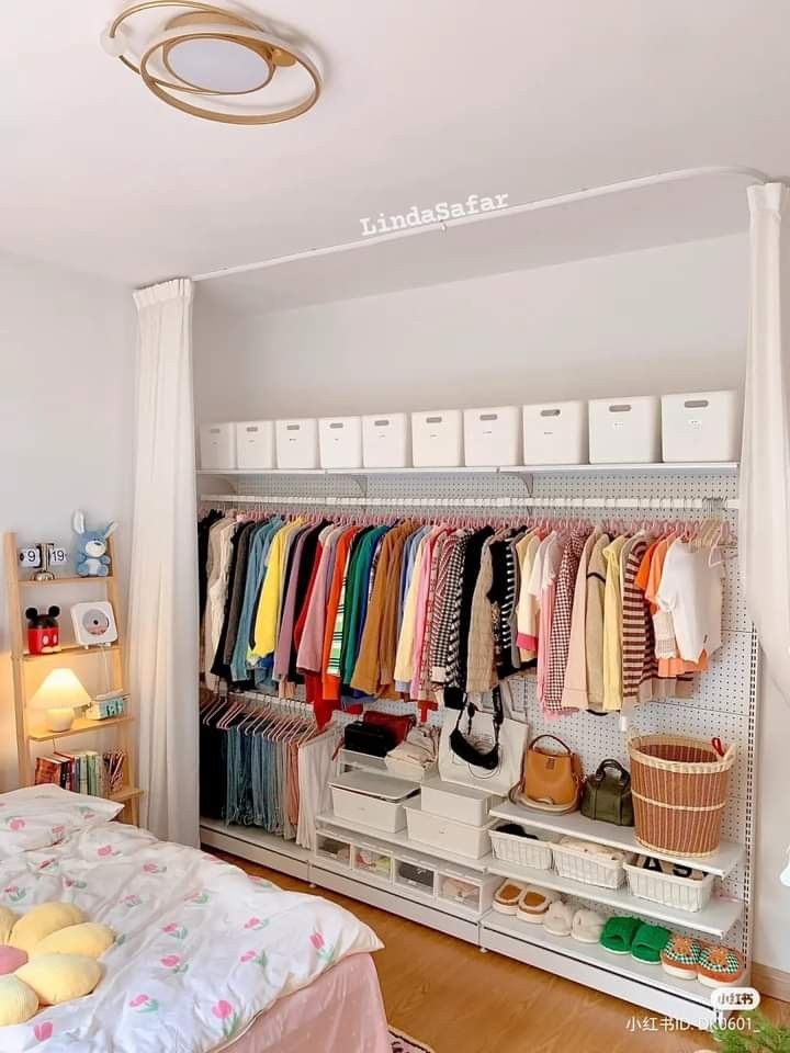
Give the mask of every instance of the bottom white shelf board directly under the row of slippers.
M 519 921 L 512 915 L 498 914 L 496 910 L 489 910 L 483 916 L 482 926 L 492 932 L 501 932 L 511 939 L 533 947 L 542 947 L 627 980 L 647 984 L 657 990 L 697 1003 L 706 1009 L 711 1007 L 711 988 L 703 986 L 699 981 L 676 978 L 665 973 L 661 965 L 637 962 L 630 954 L 612 954 L 600 943 L 579 943 L 569 936 L 553 936 L 546 932 L 542 925 Z

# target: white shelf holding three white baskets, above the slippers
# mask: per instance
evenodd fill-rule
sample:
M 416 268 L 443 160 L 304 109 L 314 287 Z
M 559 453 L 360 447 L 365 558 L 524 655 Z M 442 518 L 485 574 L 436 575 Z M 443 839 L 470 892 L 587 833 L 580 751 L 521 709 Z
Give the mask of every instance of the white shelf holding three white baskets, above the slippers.
M 741 919 L 743 904 L 740 901 L 711 897 L 702 910 L 678 910 L 676 907 L 666 907 L 650 899 L 640 899 L 629 892 L 628 885 L 620 888 L 601 888 L 599 885 L 589 885 L 583 881 L 572 881 L 562 878 L 555 870 L 535 870 L 532 867 L 519 867 L 517 863 L 507 863 L 501 859 L 494 859 L 488 865 L 492 874 L 500 878 L 511 878 L 529 884 L 540 885 L 543 888 L 555 888 L 568 896 L 578 896 L 580 899 L 591 899 L 614 907 L 624 914 L 636 914 L 646 918 L 655 918 L 667 925 L 695 929 L 722 939 L 730 929 Z

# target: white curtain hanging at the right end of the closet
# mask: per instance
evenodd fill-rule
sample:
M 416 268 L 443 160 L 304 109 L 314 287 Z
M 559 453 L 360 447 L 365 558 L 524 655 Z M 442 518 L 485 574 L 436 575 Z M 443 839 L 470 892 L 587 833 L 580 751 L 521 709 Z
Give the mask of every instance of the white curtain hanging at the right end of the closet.
M 767 669 L 790 701 L 790 229 L 782 183 L 751 186 L 741 569 Z M 783 309 L 782 309 L 783 308 Z

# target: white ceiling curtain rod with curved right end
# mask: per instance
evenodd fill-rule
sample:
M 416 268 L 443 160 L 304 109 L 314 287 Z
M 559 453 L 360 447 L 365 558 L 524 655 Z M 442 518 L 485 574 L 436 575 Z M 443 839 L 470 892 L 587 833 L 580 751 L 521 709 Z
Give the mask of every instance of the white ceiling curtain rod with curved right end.
M 611 194 L 621 194 L 630 190 L 641 190 L 643 186 L 656 186 L 663 183 L 677 183 L 687 179 L 701 179 L 707 176 L 741 176 L 757 183 L 769 183 L 771 177 L 756 168 L 729 165 L 708 165 L 701 168 L 679 168 L 672 172 L 654 172 L 652 176 L 640 176 L 636 179 L 624 179 L 617 183 L 605 183 L 602 186 L 587 186 L 568 194 L 557 194 L 554 197 L 539 197 L 521 205 L 510 205 L 495 212 L 482 212 L 458 219 L 448 219 L 444 223 L 427 223 L 419 227 L 408 227 L 405 230 L 394 230 L 392 234 L 372 235 L 359 238 L 356 241 L 340 241 L 338 245 L 327 245 L 320 249 L 306 249 L 303 252 L 292 252 L 290 256 L 279 256 L 271 260 L 259 260 L 256 263 L 239 263 L 236 267 L 223 267 L 216 271 L 206 271 L 204 274 L 194 274 L 193 282 L 208 282 L 215 278 L 230 278 L 234 274 L 247 274 L 250 271 L 262 271 L 268 267 L 280 267 L 283 263 L 295 263 L 300 260 L 318 259 L 323 256 L 334 256 L 336 252 L 350 252 L 354 249 L 368 248 L 371 245 L 381 245 L 383 241 L 394 241 L 399 238 L 416 237 L 421 234 L 445 231 L 450 227 L 462 227 L 470 223 L 482 223 L 487 219 L 501 219 L 505 216 L 521 215 L 527 212 L 539 212 L 543 208 L 554 208 L 557 205 L 569 205 L 577 201 L 587 201 L 591 197 L 606 197 Z

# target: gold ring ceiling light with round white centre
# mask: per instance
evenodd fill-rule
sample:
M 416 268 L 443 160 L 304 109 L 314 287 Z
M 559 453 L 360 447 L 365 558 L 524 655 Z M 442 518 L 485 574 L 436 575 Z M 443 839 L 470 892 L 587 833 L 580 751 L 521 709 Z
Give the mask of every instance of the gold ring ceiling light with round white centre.
M 167 21 L 153 26 L 165 9 Z M 206 121 L 276 124 L 306 113 L 320 95 L 316 66 L 293 44 L 200 0 L 131 4 L 106 27 L 102 45 L 162 102 Z M 258 93 L 280 88 L 278 101 L 264 106 Z

